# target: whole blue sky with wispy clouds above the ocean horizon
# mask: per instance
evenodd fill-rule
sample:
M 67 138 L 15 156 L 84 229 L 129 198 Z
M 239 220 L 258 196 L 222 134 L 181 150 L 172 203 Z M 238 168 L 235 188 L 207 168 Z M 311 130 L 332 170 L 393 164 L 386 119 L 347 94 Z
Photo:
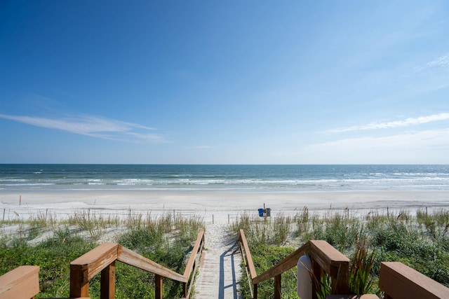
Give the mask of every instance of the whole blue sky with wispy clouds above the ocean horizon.
M 0 162 L 449 164 L 449 1 L 1 1 Z

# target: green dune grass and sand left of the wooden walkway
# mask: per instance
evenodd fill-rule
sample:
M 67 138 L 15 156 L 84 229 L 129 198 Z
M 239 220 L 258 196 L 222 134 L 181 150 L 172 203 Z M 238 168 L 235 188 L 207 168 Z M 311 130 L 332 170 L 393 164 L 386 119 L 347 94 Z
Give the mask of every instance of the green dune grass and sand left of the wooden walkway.
M 83 212 L 61 221 L 39 215 L 29 221 L 4 221 L 1 225 L 18 225 L 18 234 L 0 235 L 0 274 L 20 265 L 39 265 L 41 293 L 36 298 L 48 298 L 69 297 L 70 262 L 104 242 L 107 232 L 121 231 L 108 242 L 122 244 L 182 274 L 187 253 L 203 222 L 179 214 L 130 214 L 121 220 Z M 43 237 L 48 232 L 48 237 Z M 34 242 L 39 237 L 43 240 Z M 180 298 L 181 285 L 164 279 L 163 291 L 164 298 Z M 91 280 L 89 293 L 91 298 L 100 298 L 100 275 Z M 154 274 L 117 262 L 116 298 L 154 298 Z

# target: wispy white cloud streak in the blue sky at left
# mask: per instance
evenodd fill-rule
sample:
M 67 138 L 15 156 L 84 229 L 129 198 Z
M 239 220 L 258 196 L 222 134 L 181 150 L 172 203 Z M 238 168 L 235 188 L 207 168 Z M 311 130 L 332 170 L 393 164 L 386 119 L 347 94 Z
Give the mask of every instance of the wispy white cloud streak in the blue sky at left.
M 62 130 L 74 134 L 81 134 L 102 139 L 117 141 L 151 141 L 165 142 L 161 134 L 149 133 L 152 127 L 121 120 L 102 118 L 100 116 L 78 116 L 71 118 L 41 118 L 36 116 L 11 116 L 0 114 L 0 118 L 26 123 L 36 127 Z

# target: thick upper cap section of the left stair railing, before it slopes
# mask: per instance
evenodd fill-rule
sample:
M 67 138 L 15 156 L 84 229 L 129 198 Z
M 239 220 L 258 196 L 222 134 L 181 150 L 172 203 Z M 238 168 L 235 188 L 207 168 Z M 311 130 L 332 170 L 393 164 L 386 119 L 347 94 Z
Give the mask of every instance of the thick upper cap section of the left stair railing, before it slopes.
M 118 246 L 119 244 L 116 243 L 101 244 L 79 258 L 76 258 L 76 260 L 73 260 L 70 263 L 70 270 L 81 270 L 85 272 L 82 278 L 89 281 L 117 259 Z

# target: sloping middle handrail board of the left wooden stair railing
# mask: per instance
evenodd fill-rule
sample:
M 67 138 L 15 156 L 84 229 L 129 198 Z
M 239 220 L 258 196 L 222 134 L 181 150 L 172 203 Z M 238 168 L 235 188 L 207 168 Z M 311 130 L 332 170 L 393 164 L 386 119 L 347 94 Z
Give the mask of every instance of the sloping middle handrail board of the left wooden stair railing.
M 145 258 L 144 256 L 140 256 L 140 254 L 135 253 L 134 251 L 131 251 L 124 246 L 119 245 L 119 249 L 117 252 L 117 260 L 121 261 L 122 263 L 138 267 L 139 269 L 152 272 L 169 279 L 180 282 L 187 282 L 187 279 L 183 275 L 176 273 L 166 267 L 163 267 L 158 263 Z

